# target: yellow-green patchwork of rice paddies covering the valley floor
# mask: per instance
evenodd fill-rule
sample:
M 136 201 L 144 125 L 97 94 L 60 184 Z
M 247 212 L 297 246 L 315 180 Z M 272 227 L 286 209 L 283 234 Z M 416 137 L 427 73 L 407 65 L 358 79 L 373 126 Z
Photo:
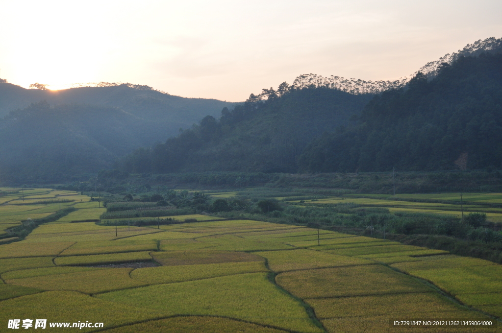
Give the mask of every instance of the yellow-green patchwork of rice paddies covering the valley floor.
M 71 223 L 103 211 L 78 193 L 26 190 L 25 199 L 30 196 L 74 198 L 68 204 L 77 210 L 22 241 L 0 244 L 3 327 L 9 319 L 45 318 L 103 322 L 99 331 L 106 333 L 502 331 L 500 323 L 448 330 L 389 326 L 390 319 L 500 318 L 502 268 L 493 262 L 326 230 L 318 245 L 317 230 L 307 227 L 205 222 L 212 219 L 205 215 L 173 217 L 199 222 L 115 231 Z M 10 204 L 18 198 L 0 202 L 0 226 L 19 224 L 34 211 L 59 210 Z

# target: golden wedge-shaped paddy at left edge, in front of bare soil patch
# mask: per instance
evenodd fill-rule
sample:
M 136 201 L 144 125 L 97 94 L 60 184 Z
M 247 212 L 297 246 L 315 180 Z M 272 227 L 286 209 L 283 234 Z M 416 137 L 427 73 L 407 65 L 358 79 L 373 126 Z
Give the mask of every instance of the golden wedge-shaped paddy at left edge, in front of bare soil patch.
M 43 290 L 74 290 L 93 294 L 145 285 L 133 280 L 129 273 L 133 268 L 113 268 L 74 273 L 26 277 L 6 280 L 6 283 Z

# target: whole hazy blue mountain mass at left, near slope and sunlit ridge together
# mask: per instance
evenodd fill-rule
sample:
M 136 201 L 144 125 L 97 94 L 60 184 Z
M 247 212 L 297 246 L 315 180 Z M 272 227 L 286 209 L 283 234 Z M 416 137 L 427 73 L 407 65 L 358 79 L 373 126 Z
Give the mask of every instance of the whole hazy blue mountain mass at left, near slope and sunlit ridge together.
M 110 168 L 134 149 L 233 105 L 131 84 L 50 91 L 0 81 L 0 181 L 68 179 Z

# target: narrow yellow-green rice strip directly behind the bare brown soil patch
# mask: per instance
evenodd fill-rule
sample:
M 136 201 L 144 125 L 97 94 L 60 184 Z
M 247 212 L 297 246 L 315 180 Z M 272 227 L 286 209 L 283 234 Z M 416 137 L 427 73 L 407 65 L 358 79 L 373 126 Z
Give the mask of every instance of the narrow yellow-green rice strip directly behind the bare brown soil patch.
M 126 252 L 112 254 L 96 254 L 71 257 L 57 257 L 54 263 L 58 266 L 105 265 L 122 262 L 137 262 L 152 260 L 150 251 Z

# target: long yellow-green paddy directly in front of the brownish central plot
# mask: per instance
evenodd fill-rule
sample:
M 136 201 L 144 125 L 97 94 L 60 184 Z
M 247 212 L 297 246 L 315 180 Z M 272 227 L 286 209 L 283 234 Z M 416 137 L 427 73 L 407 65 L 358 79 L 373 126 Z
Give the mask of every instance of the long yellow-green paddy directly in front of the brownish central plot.
M 131 273 L 131 277 L 148 284 L 160 284 L 268 271 L 265 264 L 259 261 L 223 262 L 203 265 L 138 268 Z

